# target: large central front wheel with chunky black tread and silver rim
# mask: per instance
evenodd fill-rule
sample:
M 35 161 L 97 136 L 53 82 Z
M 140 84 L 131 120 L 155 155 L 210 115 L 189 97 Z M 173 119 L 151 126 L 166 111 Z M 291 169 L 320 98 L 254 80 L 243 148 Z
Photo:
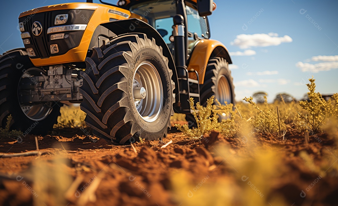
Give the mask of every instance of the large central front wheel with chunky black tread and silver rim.
M 120 144 L 167 136 L 175 85 L 168 58 L 154 39 L 144 34 L 117 37 L 93 47 L 86 64 L 80 108 L 94 135 Z

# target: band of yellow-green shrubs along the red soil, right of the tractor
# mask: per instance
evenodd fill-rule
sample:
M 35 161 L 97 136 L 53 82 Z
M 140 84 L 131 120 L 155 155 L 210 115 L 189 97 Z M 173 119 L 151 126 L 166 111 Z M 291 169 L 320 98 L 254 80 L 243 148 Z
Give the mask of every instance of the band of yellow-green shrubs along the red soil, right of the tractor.
M 256 104 L 252 97 L 245 97 L 243 100 L 247 103 L 239 102 L 236 110 L 233 110 L 232 104 L 221 105 L 217 100 L 217 105 L 212 105 L 213 97 L 208 100 L 206 107 L 202 107 L 199 102 L 194 106 L 190 100 L 197 128 L 189 129 L 187 125 L 180 124 L 176 124 L 176 127 L 191 138 L 200 138 L 211 130 L 220 131 L 226 138 L 243 136 L 243 130 L 247 130 L 244 136 L 254 134 L 276 139 L 284 139 L 285 134 L 303 135 L 309 132 L 315 135 L 324 132 L 325 128 L 330 128 L 327 125 L 338 117 L 338 94 L 325 101 L 320 93 L 315 93 L 315 79 L 309 81 L 309 101 L 285 102 L 281 97 L 281 101 L 268 104 L 264 96 L 265 102 Z M 218 116 L 228 118 L 218 122 Z M 333 127 L 337 128 L 337 125 Z

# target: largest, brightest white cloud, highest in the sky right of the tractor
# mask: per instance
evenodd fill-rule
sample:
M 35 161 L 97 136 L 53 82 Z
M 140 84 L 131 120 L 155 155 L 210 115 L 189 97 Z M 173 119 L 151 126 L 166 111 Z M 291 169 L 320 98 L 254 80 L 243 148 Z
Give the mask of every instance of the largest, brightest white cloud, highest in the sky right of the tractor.
M 247 49 L 251 47 L 266 47 L 277 46 L 283 42 L 292 42 L 292 38 L 288 35 L 284 37 L 278 37 L 277 33 L 255 33 L 253 35 L 240 34 L 236 39 L 231 42 L 231 45 L 238 46 L 241 49 Z

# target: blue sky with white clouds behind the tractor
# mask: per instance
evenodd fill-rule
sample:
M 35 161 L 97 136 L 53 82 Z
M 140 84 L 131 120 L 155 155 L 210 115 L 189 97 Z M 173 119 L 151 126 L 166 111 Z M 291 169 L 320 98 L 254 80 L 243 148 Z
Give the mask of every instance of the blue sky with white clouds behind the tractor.
M 2 2 L 0 53 L 23 47 L 17 30 L 21 12 L 74 0 Z M 116 3 L 117 1 L 113 0 Z M 232 52 L 236 99 L 265 91 L 273 100 L 280 92 L 301 98 L 308 78 L 317 91 L 338 92 L 338 1 L 215 0 L 209 17 L 211 38 Z

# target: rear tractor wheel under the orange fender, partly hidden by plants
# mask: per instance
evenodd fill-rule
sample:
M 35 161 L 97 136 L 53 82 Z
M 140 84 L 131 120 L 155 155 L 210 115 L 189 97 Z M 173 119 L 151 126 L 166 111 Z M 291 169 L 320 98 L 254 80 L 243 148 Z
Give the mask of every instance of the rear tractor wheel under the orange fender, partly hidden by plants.
M 225 101 L 227 104 L 235 104 L 233 77 L 228 63 L 221 57 L 209 60 L 204 75 L 204 84 L 199 85 L 199 88 L 200 104 L 203 106 L 207 105 L 207 100 L 213 95 L 221 104 L 224 104 Z M 220 117 L 219 120 L 223 118 L 226 117 Z M 196 127 L 196 120 L 192 114 L 187 114 L 186 120 L 190 127 Z

